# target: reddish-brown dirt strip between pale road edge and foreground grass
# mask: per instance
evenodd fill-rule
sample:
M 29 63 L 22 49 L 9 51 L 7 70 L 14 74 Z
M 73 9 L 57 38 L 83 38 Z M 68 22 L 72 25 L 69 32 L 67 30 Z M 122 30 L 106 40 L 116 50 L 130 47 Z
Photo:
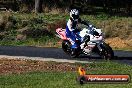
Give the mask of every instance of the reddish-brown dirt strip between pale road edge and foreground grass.
M 70 63 L 44 62 L 36 60 L 0 59 L 0 75 L 21 74 L 36 71 L 77 71 L 78 66 Z

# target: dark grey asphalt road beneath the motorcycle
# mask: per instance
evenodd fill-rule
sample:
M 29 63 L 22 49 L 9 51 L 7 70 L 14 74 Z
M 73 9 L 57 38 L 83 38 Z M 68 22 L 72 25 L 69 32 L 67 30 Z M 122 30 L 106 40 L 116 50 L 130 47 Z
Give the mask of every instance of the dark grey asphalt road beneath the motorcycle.
M 114 51 L 115 58 L 112 61 L 132 65 L 132 51 Z M 85 56 L 81 55 L 78 58 L 71 58 L 66 55 L 61 48 L 42 48 L 30 46 L 0 46 L 0 56 L 26 56 L 26 57 L 42 57 L 45 59 L 54 58 L 56 60 L 68 59 L 77 61 L 103 61 L 98 55 Z

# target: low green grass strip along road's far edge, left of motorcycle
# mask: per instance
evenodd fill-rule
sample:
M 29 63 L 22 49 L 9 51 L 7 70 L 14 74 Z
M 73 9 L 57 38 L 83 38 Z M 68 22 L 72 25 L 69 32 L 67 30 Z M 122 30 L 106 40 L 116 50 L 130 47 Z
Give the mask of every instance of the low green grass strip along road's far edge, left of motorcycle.
M 2 46 L 47 46 L 49 47 L 58 47 L 57 42 L 59 39 L 57 37 L 52 38 L 50 36 L 45 36 L 41 38 L 28 38 L 26 40 L 2 40 L 0 45 Z M 48 46 L 47 46 L 48 47 Z

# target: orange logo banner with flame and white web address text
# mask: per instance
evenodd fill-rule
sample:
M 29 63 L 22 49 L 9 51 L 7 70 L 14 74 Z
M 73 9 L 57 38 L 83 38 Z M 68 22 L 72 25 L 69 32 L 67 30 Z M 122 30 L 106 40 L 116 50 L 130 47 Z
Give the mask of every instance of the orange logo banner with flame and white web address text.
M 84 83 L 128 83 L 130 81 L 129 75 L 113 75 L 113 74 L 86 74 L 86 71 L 84 68 L 79 67 L 78 69 L 79 77 L 77 78 L 77 81 L 80 84 Z

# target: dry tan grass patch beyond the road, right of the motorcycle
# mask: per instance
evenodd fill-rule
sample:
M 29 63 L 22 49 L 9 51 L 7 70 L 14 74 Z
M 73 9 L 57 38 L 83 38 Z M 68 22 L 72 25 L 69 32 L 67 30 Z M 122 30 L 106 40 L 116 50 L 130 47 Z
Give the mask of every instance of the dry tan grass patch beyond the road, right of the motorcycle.
M 132 39 L 131 40 L 123 40 L 119 37 L 108 38 L 105 40 L 112 48 L 121 49 L 121 48 L 130 48 L 132 49 Z

